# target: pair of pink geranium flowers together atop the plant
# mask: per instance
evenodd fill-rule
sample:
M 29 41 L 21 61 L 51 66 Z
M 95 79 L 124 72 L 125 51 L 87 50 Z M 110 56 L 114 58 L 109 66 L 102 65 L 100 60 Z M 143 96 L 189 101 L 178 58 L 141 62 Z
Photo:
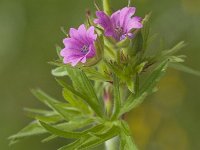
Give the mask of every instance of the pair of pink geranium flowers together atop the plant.
M 111 37 L 117 42 L 125 38 L 133 38 L 134 29 L 140 29 L 143 26 L 140 17 L 133 17 L 135 11 L 135 7 L 125 7 L 111 16 L 103 11 L 97 11 L 94 24 L 104 29 L 106 37 Z M 65 47 L 60 52 L 65 64 L 70 63 L 76 66 L 79 62 L 85 63 L 87 59 L 95 57 L 97 34 L 94 26 L 86 29 L 83 24 L 77 30 L 71 28 L 69 36 L 63 40 Z

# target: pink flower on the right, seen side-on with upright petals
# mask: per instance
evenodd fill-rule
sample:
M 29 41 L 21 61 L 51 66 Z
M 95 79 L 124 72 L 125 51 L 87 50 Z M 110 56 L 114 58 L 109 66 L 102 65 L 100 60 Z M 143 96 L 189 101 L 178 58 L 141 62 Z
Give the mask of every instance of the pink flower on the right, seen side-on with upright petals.
M 95 24 L 99 24 L 105 30 L 105 36 L 113 37 L 117 41 L 123 40 L 125 37 L 133 38 L 133 29 L 143 27 L 140 17 L 133 17 L 135 7 L 125 7 L 114 12 L 111 16 L 106 15 L 103 11 L 97 11 L 97 19 Z

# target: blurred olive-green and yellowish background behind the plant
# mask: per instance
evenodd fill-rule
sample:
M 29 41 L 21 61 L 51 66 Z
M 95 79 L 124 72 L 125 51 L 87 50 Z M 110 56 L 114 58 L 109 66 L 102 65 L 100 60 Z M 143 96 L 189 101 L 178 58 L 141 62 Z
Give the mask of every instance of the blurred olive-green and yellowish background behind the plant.
M 100 1 L 100 0 L 97 0 Z M 127 5 L 112 0 L 113 9 Z M 152 32 L 165 47 L 185 40 L 186 64 L 200 70 L 200 1 L 134 0 L 137 15 L 152 11 Z M 55 97 L 56 84 L 47 62 L 56 58 L 65 29 L 84 21 L 93 0 L 0 0 L 0 150 L 55 150 L 65 141 L 42 144 L 42 137 L 25 139 L 9 147 L 7 137 L 31 119 L 24 107 L 42 107 L 30 89 L 40 87 Z M 200 149 L 200 78 L 169 70 L 159 92 L 130 112 L 128 120 L 141 150 Z

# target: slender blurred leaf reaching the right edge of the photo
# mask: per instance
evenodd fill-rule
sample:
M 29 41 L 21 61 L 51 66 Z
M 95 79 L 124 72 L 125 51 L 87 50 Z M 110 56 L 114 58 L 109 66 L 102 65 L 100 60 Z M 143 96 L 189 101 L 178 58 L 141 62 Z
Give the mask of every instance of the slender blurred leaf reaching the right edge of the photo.
M 192 69 L 190 67 L 187 67 L 187 66 L 185 66 L 183 64 L 180 64 L 180 63 L 176 63 L 176 64 L 175 63 L 173 63 L 173 64 L 170 63 L 169 66 L 174 68 L 174 69 L 176 69 L 176 70 L 183 71 L 185 73 L 189 73 L 189 74 L 192 74 L 192 75 L 200 76 L 200 71 L 194 70 L 194 69 Z

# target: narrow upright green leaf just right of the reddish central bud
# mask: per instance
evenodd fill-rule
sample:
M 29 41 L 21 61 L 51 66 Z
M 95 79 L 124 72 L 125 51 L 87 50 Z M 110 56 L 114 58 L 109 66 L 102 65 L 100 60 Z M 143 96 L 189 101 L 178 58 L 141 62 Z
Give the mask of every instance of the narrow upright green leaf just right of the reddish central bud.
M 120 91 L 119 91 L 119 79 L 114 74 L 113 75 L 113 88 L 114 88 L 114 105 L 113 105 L 113 113 L 112 113 L 112 119 L 117 119 L 117 116 L 120 112 L 121 108 L 121 99 L 120 99 Z

